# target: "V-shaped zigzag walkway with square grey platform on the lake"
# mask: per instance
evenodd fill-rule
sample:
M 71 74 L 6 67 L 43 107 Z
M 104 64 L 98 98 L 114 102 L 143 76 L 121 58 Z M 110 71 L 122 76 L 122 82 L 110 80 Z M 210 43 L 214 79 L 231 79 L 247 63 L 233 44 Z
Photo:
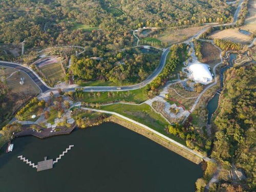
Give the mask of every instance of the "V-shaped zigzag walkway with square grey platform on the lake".
M 23 162 L 29 164 L 29 166 L 32 166 L 33 168 L 37 168 L 37 172 L 40 172 L 41 170 L 47 170 L 47 169 L 51 169 L 53 168 L 53 165 L 55 163 L 58 162 L 58 160 L 60 160 L 66 153 L 68 153 L 69 150 L 71 150 L 71 147 L 73 147 L 74 145 L 69 145 L 68 148 L 66 148 L 65 151 L 62 152 L 62 154 L 59 155 L 58 158 L 56 158 L 55 161 L 53 161 L 53 159 L 48 159 L 47 157 L 45 157 L 44 161 L 39 161 L 37 163 L 37 165 L 35 165 L 35 163 L 32 163 L 31 161 L 29 161 L 28 159 L 26 159 L 25 157 L 23 157 L 22 155 L 18 156 L 18 158 L 20 160 L 22 160 Z

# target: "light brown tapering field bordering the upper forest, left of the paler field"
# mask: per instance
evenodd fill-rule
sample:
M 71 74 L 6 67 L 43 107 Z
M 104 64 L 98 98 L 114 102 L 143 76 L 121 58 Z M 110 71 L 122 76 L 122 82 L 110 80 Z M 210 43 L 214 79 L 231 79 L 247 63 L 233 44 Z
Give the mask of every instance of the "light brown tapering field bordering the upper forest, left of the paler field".
M 191 27 L 191 28 L 180 29 L 180 30 L 170 29 L 169 31 L 166 30 L 162 34 L 158 34 L 156 38 L 161 40 L 162 42 L 166 42 L 168 45 L 173 45 L 192 37 L 204 27 L 206 26 Z

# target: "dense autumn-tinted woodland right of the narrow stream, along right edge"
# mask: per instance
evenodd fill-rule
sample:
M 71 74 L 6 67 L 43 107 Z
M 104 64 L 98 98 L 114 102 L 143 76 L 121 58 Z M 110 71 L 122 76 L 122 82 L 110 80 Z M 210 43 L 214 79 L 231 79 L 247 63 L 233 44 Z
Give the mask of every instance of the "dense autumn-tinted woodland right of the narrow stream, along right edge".
M 219 113 L 214 121 L 218 131 L 212 152 L 212 157 L 224 165 L 233 163 L 237 168 L 245 169 L 249 191 L 256 188 L 255 79 L 253 63 L 228 70 Z

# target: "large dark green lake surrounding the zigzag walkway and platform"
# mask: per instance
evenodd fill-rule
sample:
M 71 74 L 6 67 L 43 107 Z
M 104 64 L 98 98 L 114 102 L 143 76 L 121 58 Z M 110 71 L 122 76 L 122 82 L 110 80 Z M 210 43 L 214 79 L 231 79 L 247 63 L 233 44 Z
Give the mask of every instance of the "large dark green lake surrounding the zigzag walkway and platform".
M 13 152 L 0 155 L 1 192 L 189 192 L 203 175 L 200 165 L 114 123 L 13 143 Z M 36 172 L 17 158 L 55 159 L 70 144 L 75 146 L 50 170 Z

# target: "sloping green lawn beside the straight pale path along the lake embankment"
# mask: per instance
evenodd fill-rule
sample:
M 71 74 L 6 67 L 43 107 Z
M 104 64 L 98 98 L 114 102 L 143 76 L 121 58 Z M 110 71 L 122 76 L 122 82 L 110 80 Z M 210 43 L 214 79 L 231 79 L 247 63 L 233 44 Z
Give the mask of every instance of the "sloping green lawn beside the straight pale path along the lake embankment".
M 112 104 L 107 106 L 101 106 L 101 110 L 116 112 L 120 115 L 133 119 L 137 122 L 140 122 L 157 132 L 166 135 L 169 138 L 172 138 L 182 144 L 185 142 L 173 135 L 169 135 L 165 131 L 165 127 L 169 124 L 166 120 L 160 115 L 155 113 L 150 105 L 141 104 L 141 105 L 130 105 L 130 104 Z

